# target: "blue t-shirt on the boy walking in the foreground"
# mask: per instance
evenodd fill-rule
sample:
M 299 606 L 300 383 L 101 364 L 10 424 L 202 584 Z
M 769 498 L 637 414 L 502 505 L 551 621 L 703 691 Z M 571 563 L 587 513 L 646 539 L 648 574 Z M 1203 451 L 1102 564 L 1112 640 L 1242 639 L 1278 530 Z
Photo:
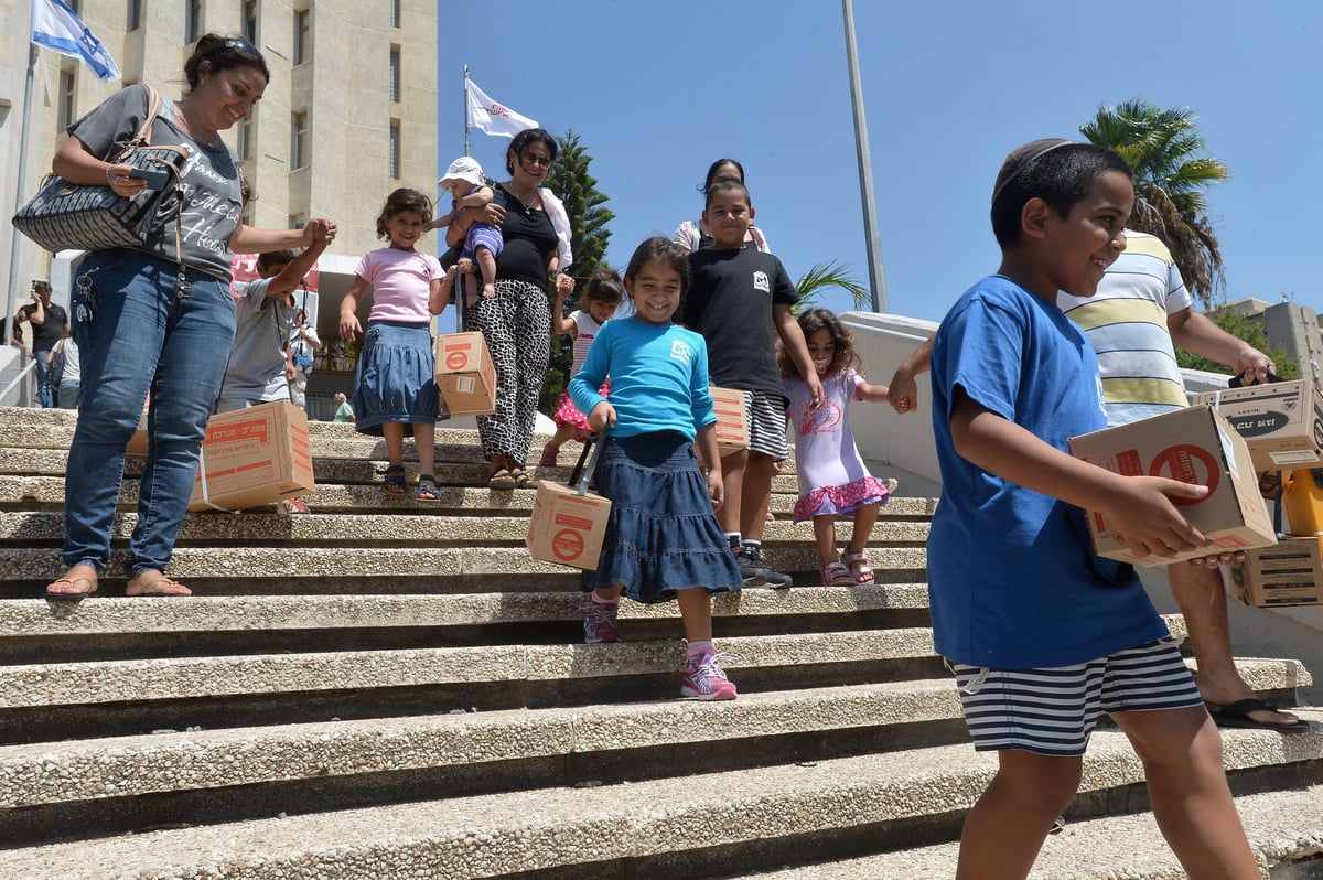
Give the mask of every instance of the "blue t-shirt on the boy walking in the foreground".
M 938 654 L 1041 668 L 1168 635 L 1139 578 L 1093 552 L 1078 508 L 976 467 L 951 442 L 955 388 L 1061 451 L 1068 437 L 1105 427 L 1098 360 L 1084 332 L 1054 303 L 992 275 L 942 320 L 931 365 L 942 499 L 927 570 Z

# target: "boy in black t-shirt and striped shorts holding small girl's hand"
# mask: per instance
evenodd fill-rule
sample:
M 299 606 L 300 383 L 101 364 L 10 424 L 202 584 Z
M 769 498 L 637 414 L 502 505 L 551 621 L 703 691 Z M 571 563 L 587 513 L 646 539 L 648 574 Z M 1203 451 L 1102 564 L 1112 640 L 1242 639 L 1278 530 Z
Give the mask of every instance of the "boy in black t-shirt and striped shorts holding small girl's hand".
M 721 459 L 726 502 L 717 519 L 738 556 L 745 584 L 783 588 L 791 586 L 790 576 L 762 560 L 771 478 L 777 463 L 790 457 L 777 336 L 800 374 L 810 377 L 815 406 L 823 401 L 823 388 L 804 333 L 790 311 L 799 296 L 786 269 L 774 255 L 745 247 L 753 217 L 742 183 L 718 180 L 708 189 L 703 220 L 712 230 L 713 245 L 689 255 L 692 279 L 681 323 L 706 339 L 712 384 L 742 390 L 749 408 L 749 451 Z

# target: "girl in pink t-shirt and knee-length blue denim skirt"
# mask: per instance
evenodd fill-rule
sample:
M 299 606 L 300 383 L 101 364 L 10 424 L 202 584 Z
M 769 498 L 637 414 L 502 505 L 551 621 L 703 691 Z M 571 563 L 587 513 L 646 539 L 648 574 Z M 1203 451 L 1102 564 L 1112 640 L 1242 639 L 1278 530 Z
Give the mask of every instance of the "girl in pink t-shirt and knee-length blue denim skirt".
M 382 488 L 405 495 L 404 445 L 413 434 L 418 451 L 419 502 L 441 499 L 433 475 L 439 394 L 431 348 L 431 318 L 446 303 L 441 263 L 414 250 L 431 228 L 431 200 L 417 189 L 396 189 L 377 217 L 377 237 L 390 242 L 364 254 L 353 286 L 340 303 L 340 337 L 361 333 L 363 352 L 355 377 L 353 409 L 363 434 L 384 437 L 389 467 Z M 372 290 L 368 331 L 359 323 L 359 299 Z

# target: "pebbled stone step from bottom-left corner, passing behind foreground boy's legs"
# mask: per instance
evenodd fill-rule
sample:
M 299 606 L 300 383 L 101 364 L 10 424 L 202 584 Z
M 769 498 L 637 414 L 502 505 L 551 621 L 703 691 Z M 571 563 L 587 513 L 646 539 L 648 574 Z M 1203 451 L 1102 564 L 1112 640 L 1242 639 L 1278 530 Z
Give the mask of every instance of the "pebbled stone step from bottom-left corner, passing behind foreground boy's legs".
M 1318 729 L 1228 730 L 1225 741 L 1226 766 L 1246 778 L 1271 765 L 1314 766 L 1323 754 Z M 728 875 L 736 864 L 747 872 L 950 840 L 995 761 L 950 745 L 374 809 L 303 813 L 308 802 L 291 801 L 274 818 L 11 850 L 5 861 L 13 876 L 66 880 Z M 1126 738 L 1097 732 L 1076 814 L 1099 814 L 1109 795 L 1142 779 Z

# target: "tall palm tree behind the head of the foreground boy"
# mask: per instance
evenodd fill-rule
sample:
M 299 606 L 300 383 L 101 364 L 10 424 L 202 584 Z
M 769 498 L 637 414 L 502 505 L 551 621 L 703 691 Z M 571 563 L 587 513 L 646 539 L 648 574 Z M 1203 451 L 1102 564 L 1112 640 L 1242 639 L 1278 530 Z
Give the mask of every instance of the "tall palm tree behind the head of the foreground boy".
M 1080 134 L 1111 147 L 1135 171 L 1135 209 L 1130 228 L 1162 238 L 1185 286 L 1208 307 L 1222 292 L 1222 254 L 1208 218 L 1205 191 L 1230 169 L 1204 155 L 1208 144 L 1192 110 L 1163 110 L 1132 98 L 1102 105 Z

